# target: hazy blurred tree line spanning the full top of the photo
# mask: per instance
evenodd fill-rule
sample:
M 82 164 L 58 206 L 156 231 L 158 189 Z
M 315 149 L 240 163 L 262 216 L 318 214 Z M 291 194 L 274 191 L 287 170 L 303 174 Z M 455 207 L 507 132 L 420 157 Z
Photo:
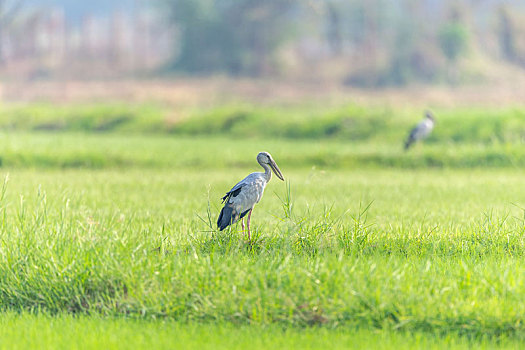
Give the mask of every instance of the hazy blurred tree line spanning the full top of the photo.
M 508 85 L 524 34 L 504 0 L 2 0 L 0 76 Z

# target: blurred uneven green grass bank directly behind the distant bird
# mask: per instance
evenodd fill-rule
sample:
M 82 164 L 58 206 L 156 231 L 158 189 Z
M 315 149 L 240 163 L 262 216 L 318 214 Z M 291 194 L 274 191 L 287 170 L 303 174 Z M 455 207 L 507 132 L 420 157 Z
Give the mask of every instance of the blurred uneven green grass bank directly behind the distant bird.
M 433 144 L 521 144 L 523 107 L 433 108 Z M 8 132 L 84 132 L 143 135 L 223 135 L 292 140 L 372 141 L 398 144 L 422 117 L 413 107 L 354 103 L 166 106 L 155 103 L 6 104 L 0 129 Z

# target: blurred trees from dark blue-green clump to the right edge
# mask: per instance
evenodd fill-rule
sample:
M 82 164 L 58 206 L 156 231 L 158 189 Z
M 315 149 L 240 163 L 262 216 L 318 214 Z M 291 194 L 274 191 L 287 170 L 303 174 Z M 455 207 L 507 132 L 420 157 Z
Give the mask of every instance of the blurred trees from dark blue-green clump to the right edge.
M 371 87 L 459 83 L 469 56 L 525 67 L 523 5 L 504 1 L 158 1 L 177 33 L 169 68 L 190 74 L 286 74 L 290 52 L 317 63 L 303 74 L 339 67 L 346 84 Z

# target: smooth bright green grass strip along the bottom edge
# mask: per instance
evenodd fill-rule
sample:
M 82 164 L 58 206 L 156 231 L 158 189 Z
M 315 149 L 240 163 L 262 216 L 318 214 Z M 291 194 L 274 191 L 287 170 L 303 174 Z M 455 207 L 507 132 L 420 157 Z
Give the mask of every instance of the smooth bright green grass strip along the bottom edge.
M 3 349 L 520 349 L 519 339 L 370 329 L 282 328 L 120 318 L 3 314 Z

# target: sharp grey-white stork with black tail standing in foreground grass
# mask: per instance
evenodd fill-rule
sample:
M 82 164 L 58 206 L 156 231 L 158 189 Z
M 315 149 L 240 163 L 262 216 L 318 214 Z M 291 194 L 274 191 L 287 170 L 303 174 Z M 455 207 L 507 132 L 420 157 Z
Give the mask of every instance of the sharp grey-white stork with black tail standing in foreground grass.
M 244 231 L 244 217 L 248 214 L 248 240 L 250 237 L 250 218 L 253 207 L 262 198 L 266 184 L 272 178 L 272 170 L 275 175 L 284 181 L 281 170 L 268 152 L 257 155 L 257 162 L 264 168 L 264 173 L 251 173 L 222 197 L 224 207 L 219 214 L 217 227 L 224 230 L 242 219 L 242 230 Z

